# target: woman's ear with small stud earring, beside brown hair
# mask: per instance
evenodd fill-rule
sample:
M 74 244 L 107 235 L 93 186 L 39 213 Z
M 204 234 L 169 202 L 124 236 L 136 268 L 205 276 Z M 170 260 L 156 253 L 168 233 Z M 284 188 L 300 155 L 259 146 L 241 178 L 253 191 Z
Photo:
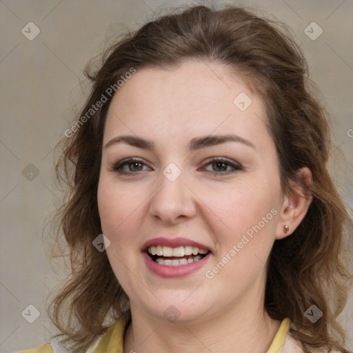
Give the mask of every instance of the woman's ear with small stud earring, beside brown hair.
M 297 170 L 298 177 L 306 184 L 312 183 L 312 172 L 309 168 L 303 167 Z M 283 239 L 292 234 L 301 223 L 312 202 L 312 194 L 308 194 L 301 185 L 290 180 L 291 191 L 284 196 L 283 204 L 279 212 L 279 223 L 277 224 L 275 239 Z M 288 225 L 289 230 L 285 232 L 284 226 Z

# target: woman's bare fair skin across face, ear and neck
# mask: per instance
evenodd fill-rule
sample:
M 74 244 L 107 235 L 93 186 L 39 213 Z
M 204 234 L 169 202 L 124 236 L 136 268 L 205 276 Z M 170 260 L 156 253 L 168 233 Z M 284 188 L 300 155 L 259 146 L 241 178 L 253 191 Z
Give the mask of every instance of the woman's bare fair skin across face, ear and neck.
M 243 112 L 233 103 L 241 92 L 252 99 Z M 267 352 L 280 322 L 264 310 L 266 262 L 275 239 L 294 231 L 311 200 L 301 197 L 299 188 L 289 195 L 281 191 L 276 150 L 264 121 L 261 99 L 216 63 L 144 68 L 114 95 L 103 146 L 121 134 L 155 144 L 152 151 L 125 143 L 102 151 L 99 214 L 111 242 L 108 258 L 132 311 L 124 353 Z M 230 133 L 254 148 L 228 142 L 192 153 L 186 149 L 195 137 Z M 112 170 L 128 157 L 145 164 L 125 165 L 128 175 Z M 241 170 L 212 166 L 212 157 L 225 157 Z M 163 174 L 170 163 L 181 170 L 173 182 Z M 228 174 L 221 176 L 223 170 Z M 310 170 L 299 172 L 310 183 Z M 253 239 L 212 279 L 206 278 L 206 270 L 272 209 L 276 214 Z M 193 274 L 163 279 L 148 270 L 141 255 L 143 243 L 157 236 L 192 239 L 212 255 Z M 163 314 L 170 305 L 180 313 L 173 322 Z

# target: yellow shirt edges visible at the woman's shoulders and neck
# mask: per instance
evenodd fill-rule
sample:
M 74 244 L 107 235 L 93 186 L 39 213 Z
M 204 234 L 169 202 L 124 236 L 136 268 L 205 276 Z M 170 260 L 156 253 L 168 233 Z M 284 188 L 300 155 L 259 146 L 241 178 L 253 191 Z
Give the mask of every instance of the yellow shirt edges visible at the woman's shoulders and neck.
M 127 315 L 121 316 L 114 325 L 110 326 L 108 331 L 101 336 L 101 339 L 94 344 L 87 352 L 92 353 L 123 353 L 123 338 L 125 334 L 125 328 L 129 322 L 129 317 Z M 284 319 L 279 327 L 274 340 L 270 345 L 267 353 L 282 353 L 283 345 L 285 344 L 285 338 L 288 334 L 290 328 L 290 319 Z M 57 346 L 59 347 L 59 345 Z M 25 350 L 19 353 L 55 353 L 55 344 L 47 343 L 46 345 L 41 345 L 34 350 Z M 59 349 L 58 349 L 59 351 Z M 62 351 L 62 348 L 60 350 Z M 284 352 L 284 351 L 283 351 Z

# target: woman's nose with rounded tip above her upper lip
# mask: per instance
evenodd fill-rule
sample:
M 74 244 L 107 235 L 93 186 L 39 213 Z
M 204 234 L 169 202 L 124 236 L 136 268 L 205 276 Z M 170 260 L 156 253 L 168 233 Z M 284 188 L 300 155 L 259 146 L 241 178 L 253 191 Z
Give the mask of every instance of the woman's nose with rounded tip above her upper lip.
M 178 223 L 196 214 L 195 196 L 185 185 L 183 173 L 170 181 L 161 173 L 160 185 L 152 194 L 150 214 L 165 223 Z

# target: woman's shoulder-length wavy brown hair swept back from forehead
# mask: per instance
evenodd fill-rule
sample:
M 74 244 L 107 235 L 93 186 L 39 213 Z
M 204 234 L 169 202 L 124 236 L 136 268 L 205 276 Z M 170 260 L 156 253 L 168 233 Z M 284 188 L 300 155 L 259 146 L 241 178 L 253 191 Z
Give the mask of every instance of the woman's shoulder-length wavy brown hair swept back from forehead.
M 92 90 L 74 121 L 79 125 L 59 143 L 56 165 L 57 177 L 67 184 L 56 234 L 65 236 L 72 272 L 48 308 L 61 332 L 57 336 L 75 352 L 84 352 L 114 320 L 130 311 L 108 256 L 92 246 L 102 232 L 97 186 L 111 97 L 107 95 L 108 101 L 94 114 L 87 112 L 131 68 L 177 68 L 188 60 L 219 63 L 259 94 L 279 157 L 283 192 L 290 192 L 292 179 L 312 195 L 310 208 L 293 234 L 274 242 L 265 309 L 272 319 L 290 318 L 295 325 L 290 331 L 305 352 L 324 347 L 348 353 L 337 316 L 352 279 L 347 270 L 351 253 L 344 248 L 350 245 L 352 219 L 328 171 L 334 150 L 327 112 L 315 98 L 305 57 L 290 30 L 275 19 L 257 16 L 254 9 L 229 5 L 219 10 L 213 6 L 169 9 L 119 37 L 101 62 L 94 59 L 86 66 Z M 89 118 L 83 123 L 85 114 Z M 304 166 L 312 171 L 310 186 L 296 175 Z M 313 304 L 323 312 L 316 323 L 304 314 Z

